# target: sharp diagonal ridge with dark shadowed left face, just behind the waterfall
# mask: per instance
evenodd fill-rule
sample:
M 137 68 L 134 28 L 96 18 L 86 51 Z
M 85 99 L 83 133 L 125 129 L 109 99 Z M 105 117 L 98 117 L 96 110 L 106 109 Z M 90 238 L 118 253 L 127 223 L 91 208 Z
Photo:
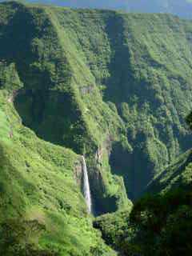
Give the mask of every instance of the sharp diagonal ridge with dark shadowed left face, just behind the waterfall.
M 122 121 L 102 102 L 86 65 L 81 59 L 77 62 L 78 55 L 62 34 L 65 31 L 53 10 L 11 2 L 2 4 L 1 12 L 0 58 L 8 66 L 15 63 L 22 81 L 22 88 L 14 90 L 14 106 L 22 122 L 40 138 L 86 155 L 90 178 L 94 176 L 90 180 L 95 212 L 126 206 L 122 178 L 110 173 L 107 150 L 107 123 L 113 138 L 118 139 Z M 93 98 L 95 104 L 91 104 Z M 100 128 L 96 118 L 102 123 Z

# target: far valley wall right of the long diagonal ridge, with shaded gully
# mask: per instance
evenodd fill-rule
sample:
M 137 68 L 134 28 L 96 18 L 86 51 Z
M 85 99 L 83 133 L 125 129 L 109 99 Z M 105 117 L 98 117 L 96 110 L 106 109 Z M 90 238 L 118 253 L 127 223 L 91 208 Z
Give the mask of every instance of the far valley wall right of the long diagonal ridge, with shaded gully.
M 138 198 L 158 171 L 190 148 L 184 118 L 192 107 L 191 23 L 161 14 L 51 11 L 62 38 L 70 42 L 66 55 L 78 88 L 87 87 L 80 89 L 89 110 L 86 117 L 90 115 L 98 126 L 105 123 L 95 112 L 101 108 L 102 118 L 106 113 L 91 93 L 96 85 L 114 117 L 121 118 L 106 125 L 110 136 L 104 140 L 112 142 L 113 173 L 124 178 L 128 196 Z M 114 137 L 117 123 L 122 124 L 118 139 Z M 105 127 L 101 128 L 103 134 Z

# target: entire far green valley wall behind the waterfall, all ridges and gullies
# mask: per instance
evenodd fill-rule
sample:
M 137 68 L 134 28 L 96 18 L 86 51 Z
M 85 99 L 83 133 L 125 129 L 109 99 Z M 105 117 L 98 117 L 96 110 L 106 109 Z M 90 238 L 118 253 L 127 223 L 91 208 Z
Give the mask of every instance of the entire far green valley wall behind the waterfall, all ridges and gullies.
M 1 5 L 0 58 L 38 137 L 85 154 L 96 214 L 126 207 L 190 148 L 191 22 L 166 14 Z M 14 38 L 14 39 L 13 39 Z M 123 178 L 123 179 L 122 179 Z

